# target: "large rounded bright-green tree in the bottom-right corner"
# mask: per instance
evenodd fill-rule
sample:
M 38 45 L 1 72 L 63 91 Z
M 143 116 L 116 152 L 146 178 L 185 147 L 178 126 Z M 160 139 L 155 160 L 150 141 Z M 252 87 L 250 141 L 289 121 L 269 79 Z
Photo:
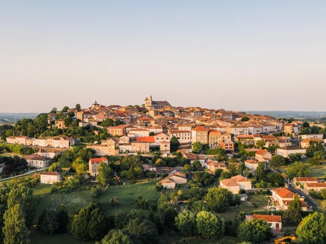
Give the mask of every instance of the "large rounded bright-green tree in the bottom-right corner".
M 319 244 L 326 241 L 326 218 L 319 212 L 314 212 L 302 220 L 296 229 L 298 240 L 305 244 Z

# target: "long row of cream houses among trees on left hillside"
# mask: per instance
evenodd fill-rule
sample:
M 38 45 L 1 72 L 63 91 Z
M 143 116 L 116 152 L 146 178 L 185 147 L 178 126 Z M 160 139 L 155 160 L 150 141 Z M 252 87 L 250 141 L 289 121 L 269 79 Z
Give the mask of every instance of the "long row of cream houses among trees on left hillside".
M 49 138 L 34 138 L 28 136 L 9 136 L 6 138 L 7 143 L 20 144 L 20 145 L 33 145 L 42 147 L 57 147 L 57 148 L 70 148 L 75 144 L 77 139 L 73 137 L 49 137 Z

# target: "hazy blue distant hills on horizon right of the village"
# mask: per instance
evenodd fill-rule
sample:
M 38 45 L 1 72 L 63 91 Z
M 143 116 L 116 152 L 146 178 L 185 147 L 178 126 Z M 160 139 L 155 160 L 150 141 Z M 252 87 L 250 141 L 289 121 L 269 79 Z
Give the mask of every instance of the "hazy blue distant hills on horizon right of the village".
M 326 112 L 317 111 L 246 111 L 247 113 L 257 113 L 270 115 L 276 118 L 320 118 L 326 117 Z

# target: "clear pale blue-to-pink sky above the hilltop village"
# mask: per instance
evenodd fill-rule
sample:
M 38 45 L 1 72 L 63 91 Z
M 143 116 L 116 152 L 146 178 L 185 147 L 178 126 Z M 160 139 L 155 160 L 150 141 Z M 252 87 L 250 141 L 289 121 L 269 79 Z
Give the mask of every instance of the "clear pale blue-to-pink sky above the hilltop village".
M 326 1 L 1 1 L 0 112 L 325 111 Z

